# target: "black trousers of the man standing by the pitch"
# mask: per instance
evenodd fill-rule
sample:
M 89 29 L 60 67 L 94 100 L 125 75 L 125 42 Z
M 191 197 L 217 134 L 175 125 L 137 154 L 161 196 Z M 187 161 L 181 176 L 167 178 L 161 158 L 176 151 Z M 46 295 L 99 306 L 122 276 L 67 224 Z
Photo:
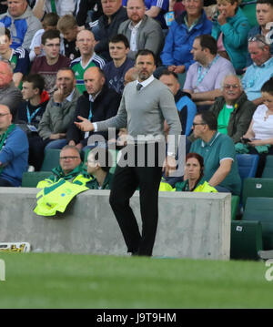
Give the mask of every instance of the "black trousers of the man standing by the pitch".
M 139 146 L 132 147 L 134 147 L 132 150 L 135 151 L 137 161 Z M 146 158 L 148 147 L 146 144 Z M 161 158 L 158 160 L 158 144 L 156 144 L 154 167 L 149 167 L 147 160 L 145 160 L 144 167 L 132 166 L 134 165 L 120 167 L 117 164 L 110 192 L 110 205 L 126 242 L 127 251 L 151 256 L 157 233 L 158 189 L 162 176 L 162 160 Z M 129 205 L 130 198 L 138 187 L 142 219 L 141 233 L 134 212 Z

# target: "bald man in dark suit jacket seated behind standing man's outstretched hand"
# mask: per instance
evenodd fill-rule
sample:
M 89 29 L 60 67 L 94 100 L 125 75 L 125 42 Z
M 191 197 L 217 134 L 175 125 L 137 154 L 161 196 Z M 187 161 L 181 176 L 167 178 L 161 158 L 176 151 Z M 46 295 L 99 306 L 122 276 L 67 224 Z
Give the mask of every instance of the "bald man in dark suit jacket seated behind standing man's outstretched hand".
M 86 91 L 78 98 L 76 113 L 73 121 L 79 121 L 78 116 L 89 119 L 91 122 L 105 120 L 116 116 L 121 96 L 115 90 L 108 88 L 106 77 L 99 67 L 87 68 L 84 74 Z M 82 132 L 72 124 L 66 133 L 66 141 L 69 145 L 82 149 L 87 145 L 87 139 L 94 132 Z M 107 132 L 97 132 L 108 139 Z

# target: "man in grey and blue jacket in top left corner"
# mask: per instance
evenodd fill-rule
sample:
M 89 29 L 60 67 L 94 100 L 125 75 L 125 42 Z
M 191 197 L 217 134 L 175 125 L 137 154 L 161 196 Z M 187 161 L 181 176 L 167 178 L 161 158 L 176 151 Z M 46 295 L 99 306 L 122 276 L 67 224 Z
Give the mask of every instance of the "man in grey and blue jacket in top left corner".
M 12 48 L 23 46 L 29 50 L 33 36 L 42 28 L 41 22 L 33 15 L 26 0 L 8 0 L 7 8 L 7 12 L 0 15 L 0 23 L 11 32 Z

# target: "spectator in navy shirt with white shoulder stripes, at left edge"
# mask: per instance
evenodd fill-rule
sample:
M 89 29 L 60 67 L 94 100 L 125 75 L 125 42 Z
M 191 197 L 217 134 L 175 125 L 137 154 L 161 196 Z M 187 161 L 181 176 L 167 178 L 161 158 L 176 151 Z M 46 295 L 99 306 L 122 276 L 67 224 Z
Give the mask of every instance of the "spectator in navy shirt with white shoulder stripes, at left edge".
M 0 60 L 5 59 L 11 63 L 14 69 L 13 80 L 15 82 L 15 87 L 19 87 L 22 77 L 27 75 L 30 68 L 29 56 L 24 47 L 19 46 L 14 50 L 11 44 L 10 31 L 5 28 L 5 34 L 0 35 Z

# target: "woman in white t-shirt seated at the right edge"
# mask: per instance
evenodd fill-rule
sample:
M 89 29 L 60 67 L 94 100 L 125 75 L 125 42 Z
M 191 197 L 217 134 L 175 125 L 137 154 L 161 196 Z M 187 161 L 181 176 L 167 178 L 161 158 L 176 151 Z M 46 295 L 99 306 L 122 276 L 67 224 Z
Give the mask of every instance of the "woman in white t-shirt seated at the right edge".
M 257 177 L 261 177 L 265 167 L 266 156 L 273 155 L 273 78 L 271 77 L 262 87 L 263 104 L 255 110 L 248 131 L 241 141 L 248 145 L 244 153 L 258 154 L 259 163 Z M 238 144 L 239 153 L 242 147 Z

